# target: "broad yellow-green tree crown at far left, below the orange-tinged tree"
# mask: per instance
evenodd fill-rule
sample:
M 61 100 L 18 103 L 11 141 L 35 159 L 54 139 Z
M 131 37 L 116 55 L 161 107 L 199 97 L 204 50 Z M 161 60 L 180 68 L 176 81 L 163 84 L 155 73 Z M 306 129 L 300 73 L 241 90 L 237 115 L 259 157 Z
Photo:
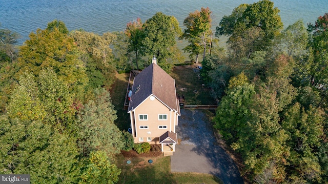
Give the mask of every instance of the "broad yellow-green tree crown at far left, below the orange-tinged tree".
M 42 70 L 38 77 L 24 73 L 12 93 L 7 111 L 10 118 L 40 119 L 59 131 L 74 131 L 73 97 L 52 70 Z

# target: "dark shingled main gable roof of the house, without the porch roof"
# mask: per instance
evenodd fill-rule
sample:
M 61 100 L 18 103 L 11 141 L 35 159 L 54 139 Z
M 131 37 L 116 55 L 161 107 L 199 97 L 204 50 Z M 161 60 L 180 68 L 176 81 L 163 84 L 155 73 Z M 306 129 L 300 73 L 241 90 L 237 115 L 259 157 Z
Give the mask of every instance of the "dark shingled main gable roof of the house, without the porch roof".
M 175 81 L 156 64 L 151 64 L 134 78 L 128 112 L 139 106 L 151 94 L 180 114 Z

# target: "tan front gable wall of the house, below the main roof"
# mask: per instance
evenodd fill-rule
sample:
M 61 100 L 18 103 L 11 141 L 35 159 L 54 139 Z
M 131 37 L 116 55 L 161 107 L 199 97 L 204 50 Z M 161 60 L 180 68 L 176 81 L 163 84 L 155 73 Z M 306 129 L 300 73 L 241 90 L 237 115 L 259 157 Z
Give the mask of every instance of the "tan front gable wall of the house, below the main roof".
M 135 124 L 137 137 L 135 142 L 139 142 L 139 137 L 144 138 L 144 142 L 147 142 L 147 137 L 151 137 L 150 144 L 154 144 L 154 138 L 158 138 L 167 131 L 174 131 L 174 124 L 176 119 L 176 113 L 171 111 L 168 107 L 163 105 L 157 98 L 151 100 L 149 97 L 141 103 L 135 110 Z M 147 120 L 139 120 L 140 114 L 147 114 Z M 159 120 L 159 114 L 166 114 L 167 120 Z M 132 122 L 132 121 L 131 121 Z M 140 129 L 140 126 L 148 126 L 148 129 Z M 167 126 L 166 129 L 159 129 L 159 126 Z M 150 134 L 149 134 L 150 133 Z M 158 143 L 158 142 L 157 142 Z

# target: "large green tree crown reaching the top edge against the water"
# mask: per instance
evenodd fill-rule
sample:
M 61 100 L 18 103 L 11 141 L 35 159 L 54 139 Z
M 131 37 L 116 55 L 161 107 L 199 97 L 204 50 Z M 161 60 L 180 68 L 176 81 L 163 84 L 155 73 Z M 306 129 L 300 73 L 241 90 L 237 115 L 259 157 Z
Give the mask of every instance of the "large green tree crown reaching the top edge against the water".
M 237 57 L 250 57 L 254 51 L 268 50 L 282 29 L 278 8 L 262 0 L 252 5 L 242 4 L 231 15 L 223 16 L 216 36 L 229 35 L 228 44 Z

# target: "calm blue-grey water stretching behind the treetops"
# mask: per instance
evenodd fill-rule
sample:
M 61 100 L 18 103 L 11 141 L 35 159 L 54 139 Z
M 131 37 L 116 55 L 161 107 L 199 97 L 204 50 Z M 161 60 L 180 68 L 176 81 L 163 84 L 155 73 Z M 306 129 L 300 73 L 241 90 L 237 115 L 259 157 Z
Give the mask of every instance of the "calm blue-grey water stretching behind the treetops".
M 0 23 L 22 35 L 22 44 L 30 32 L 45 29 L 53 19 L 64 21 L 69 30 L 84 29 L 102 34 L 122 31 L 126 24 L 140 17 L 142 22 L 161 11 L 175 16 L 182 26 L 190 12 L 209 7 L 212 11 L 213 29 L 223 15 L 230 15 L 240 4 L 250 0 L 0 0 Z M 302 18 L 304 23 L 314 23 L 318 16 L 328 12 L 328 0 L 273 0 L 280 9 L 284 26 Z

